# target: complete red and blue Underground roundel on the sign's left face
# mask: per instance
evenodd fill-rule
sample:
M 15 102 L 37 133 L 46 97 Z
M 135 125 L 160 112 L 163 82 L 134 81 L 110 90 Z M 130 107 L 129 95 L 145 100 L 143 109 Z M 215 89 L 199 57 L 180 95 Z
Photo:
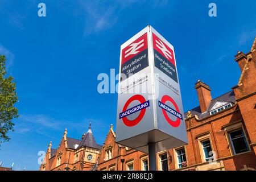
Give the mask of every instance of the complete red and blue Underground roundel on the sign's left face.
M 134 105 L 134 103 L 140 103 L 138 105 Z M 150 106 L 150 102 L 146 101 L 145 98 L 142 95 L 135 95 L 129 98 L 125 105 L 123 106 L 122 113 L 119 113 L 119 119 L 122 119 L 123 123 L 126 126 L 135 126 L 137 125 L 142 118 L 144 117 L 144 114 L 146 113 L 146 108 Z M 140 112 L 138 117 L 135 119 L 129 120 L 127 116 L 133 115 L 137 112 Z

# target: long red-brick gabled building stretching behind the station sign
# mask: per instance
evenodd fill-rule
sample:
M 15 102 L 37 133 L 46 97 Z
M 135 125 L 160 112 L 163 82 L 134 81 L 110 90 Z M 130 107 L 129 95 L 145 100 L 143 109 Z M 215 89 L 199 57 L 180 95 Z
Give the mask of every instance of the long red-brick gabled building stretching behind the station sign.
M 188 144 L 156 154 L 158 170 L 255 170 L 256 169 L 256 38 L 250 52 L 238 52 L 235 61 L 241 69 L 238 84 L 230 92 L 212 99 L 209 85 L 198 80 L 195 84 L 200 106 L 185 113 Z M 89 129 L 90 130 L 90 129 Z M 94 170 L 147 170 L 148 155 L 115 143 L 113 125 L 101 147 L 85 144 L 75 148 L 65 131 L 60 147 L 51 150 L 40 169 L 81 168 L 86 163 Z M 90 135 L 93 138 L 93 135 Z M 65 144 L 65 142 L 67 144 Z M 68 143 L 69 146 L 68 146 Z M 64 145 L 65 144 L 65 145 Z M 66 146 L 66 147 L 64 147 Z M 97 147 L 96 147 L 97 146 Z M 87 148 L 94 152 L 88 163 Z M 62 152 L 64 159 L 57 165 Z M 65 153 L 65 154 L 64 154 Z M 71 162 L 79 154 L 79 163 Z M 70 160 L 68 160 L 70 156 Z M 63 161 L 62 161 L 63 160 Z M 68 162 L 69 161 L 69 162 Z M 92 167 L 93 166 L 93 167 Z

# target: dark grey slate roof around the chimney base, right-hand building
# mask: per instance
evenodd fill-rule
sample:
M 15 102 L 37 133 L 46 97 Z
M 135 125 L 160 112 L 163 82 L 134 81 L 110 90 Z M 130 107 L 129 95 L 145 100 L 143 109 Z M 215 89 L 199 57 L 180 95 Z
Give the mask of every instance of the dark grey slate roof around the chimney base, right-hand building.
M 225 101 L 225 102 L 232 102 L 234 103 L 236 101 L 236 98 L 234 96 L 234 91 L 230 91 L 227 92 L 217 98 L 214 98 L 212 101 L 210 101 L 210 104 L 208 106 L 207 111 L 205 111 L 204 113 L 201 113 L 201 109 L 200 106 L 195 107 L 194 109 L 191 109 L 191 114 L 192 115 L 197 115 L 199 117 L 199 119 L 203 119 L 205 117 L 208 117 L 210 115 L 209 110 L 213 107 L 213 105 L 217 102 L 217 101 Z M 187 115 L 188 112 L 185 113 L 185 115 Z

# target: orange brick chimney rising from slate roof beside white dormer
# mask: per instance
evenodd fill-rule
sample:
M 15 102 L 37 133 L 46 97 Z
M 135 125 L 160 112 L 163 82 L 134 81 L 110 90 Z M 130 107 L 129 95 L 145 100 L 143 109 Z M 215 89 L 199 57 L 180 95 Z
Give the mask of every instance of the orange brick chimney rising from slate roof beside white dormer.
M 212 101 L 212 95 L 210 94 L 210 87 L 204 82 L 201 82 L 200 80 L 198 80 L 196 82 L 195 89 L 197 91 L 201 113 L 204 113 L 205 111 L 207 111 L 210 101 Z

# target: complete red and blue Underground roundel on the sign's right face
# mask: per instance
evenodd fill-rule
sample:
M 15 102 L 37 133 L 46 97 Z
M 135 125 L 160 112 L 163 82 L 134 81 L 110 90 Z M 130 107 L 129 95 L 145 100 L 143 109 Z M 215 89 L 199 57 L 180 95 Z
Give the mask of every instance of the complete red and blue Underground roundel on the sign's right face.
M 167 105 L 167 102 L 171 102 L 172 105 L 174 105 L 174 108 Z M 158 106 L 162 108 L 162 112 L 164 115 L 164 118 L 166 118 L 166 121 L 173 127 L 179 127 L 180 126 L 180 119 L 182 120 L 182 114 L 180 114 L 179 107 L 177 106 L 176 102 L 170 97 L 170 96 L 163 96 L 161 101 L 158 101 Z M 168 116 L 167 113 L 170 113 L 174 115 L 174 118 L 172 119 Z

